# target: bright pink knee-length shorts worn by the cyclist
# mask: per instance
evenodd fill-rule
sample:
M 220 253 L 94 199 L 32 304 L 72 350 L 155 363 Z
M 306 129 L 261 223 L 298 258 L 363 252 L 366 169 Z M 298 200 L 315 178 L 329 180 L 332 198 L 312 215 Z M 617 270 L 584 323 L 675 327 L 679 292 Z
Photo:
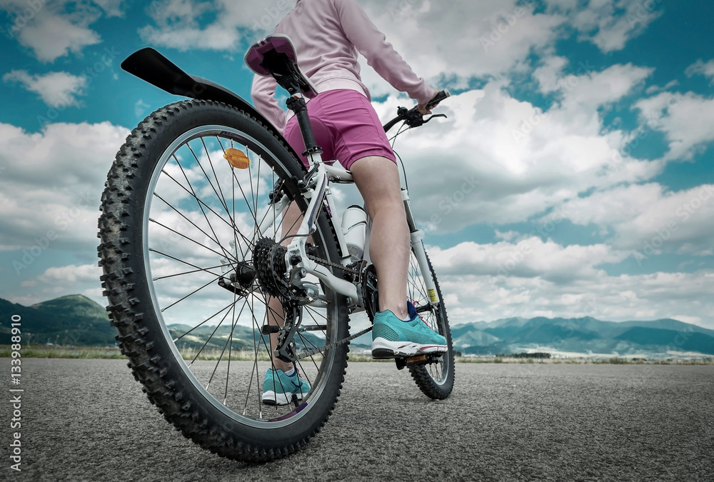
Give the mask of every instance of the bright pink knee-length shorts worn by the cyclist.
M 341 89 L 318 94 L 308 102 L 308 114 L 317 145 L 323 149 L 323 160 L 340 161 L 345 169 L 367 156 L 386 157 L 396 164 L 377 113 L 358 91 Z M 305 143 L 294 116 L 285 127 L 285 139 L 308 166 L 302 155 Z

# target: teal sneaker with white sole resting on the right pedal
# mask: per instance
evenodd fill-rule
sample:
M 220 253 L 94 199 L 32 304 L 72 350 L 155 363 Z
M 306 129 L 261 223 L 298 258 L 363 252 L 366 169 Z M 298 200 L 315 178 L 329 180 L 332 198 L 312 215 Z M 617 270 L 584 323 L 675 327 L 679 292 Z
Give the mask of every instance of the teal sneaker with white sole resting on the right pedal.
M 372 357 L 396 358 L 447 351 L 446 338 L 426 326 L 413 307 L 410 321 L 399 319 L 391 311 L 378 311 L 372 327 Z

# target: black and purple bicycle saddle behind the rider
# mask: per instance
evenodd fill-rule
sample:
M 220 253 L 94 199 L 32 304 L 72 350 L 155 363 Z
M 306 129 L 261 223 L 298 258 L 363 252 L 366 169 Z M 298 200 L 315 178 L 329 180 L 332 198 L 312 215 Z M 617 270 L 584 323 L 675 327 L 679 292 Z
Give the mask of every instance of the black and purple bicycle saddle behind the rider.
M 295 46 L 286 35 L 268 35 L 246 52 L 246 64 L 259 76 L 273 76 L 291 95 L 298 90 L 308 99 L 317 96 L 317 89 L 298 67 Z

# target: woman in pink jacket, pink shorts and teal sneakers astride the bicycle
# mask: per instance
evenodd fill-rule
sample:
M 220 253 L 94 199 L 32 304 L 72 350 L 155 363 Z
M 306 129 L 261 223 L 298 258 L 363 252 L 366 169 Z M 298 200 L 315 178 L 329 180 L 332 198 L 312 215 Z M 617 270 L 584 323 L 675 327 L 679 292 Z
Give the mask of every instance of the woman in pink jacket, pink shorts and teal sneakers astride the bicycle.
M 308 114 L 323 159 L 338 159 L 352 172 L 372 219 L 369 254 L 379 280 L 380 309 L 374 317 L 372 350 L 391 351 L 394 356 L 446 351 L 446 339 L 426 328 L 408 308 L 405 295 L 410 239 L 396 157 L 361 81 L 357 54 L 362 54 L 395 89 L 416 99 L 422 114 L 430 113 L 426 104 L 438 89 L 413 73 L 356 0 L 298 0 L 274 33 L 291 38 L 301 71 L 319 93 L 308 102 Z M 292 113 L 288 118 L 278 105 L 276 87 L 272 77 L 256 76 L 253 102 L 273 125 L 283 129 L 288 143 L 301 153 L 305 146 L 297 119 Z M 304 156 L 301 161 L 308 165 Z M 291 225 L 283 222 L 283 226 Z M 275 301 L 271 308 L 281 312 Z M 271 322 L 283 324 L 279 319 Z M 272 338 L 274 346 L 276 336 Z M 301 398 L 309 391 L 291 364 L 275 359 L 273 366 L 275 370 L 268 369 L 263 383 L 264 402 L 289 403 L 293 393 Z

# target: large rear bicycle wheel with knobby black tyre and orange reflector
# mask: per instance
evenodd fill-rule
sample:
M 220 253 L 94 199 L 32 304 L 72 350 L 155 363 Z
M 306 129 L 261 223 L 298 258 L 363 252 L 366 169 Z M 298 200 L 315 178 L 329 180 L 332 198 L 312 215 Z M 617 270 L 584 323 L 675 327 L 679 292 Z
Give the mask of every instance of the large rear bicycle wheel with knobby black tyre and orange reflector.
M 248 169 L 233 169 L 223 158 L 228 149 L 242 151 Z M 151 114 L 109 171 L 98 251 L 119 346 L 151 403 L 220 456 L 266 461 L 296 451 L 327 421 L 344 380 L 346 343 L 298 362 L 311 386 L 301 401 L 261 401 L 273 366 L 261 334 L 270 296 L 253 247 L 280 241 L 284 210 L 271 204 L 274 196 L 287 194 L 305 211 L 296 186 L 303 175 L 282 139 L 211 101 Z M 318 258 L 339 262 L 324 213 L 313 243 Z M 303 307 L 308 331 L 296 336 L 298 351 L 348 336 L 346 298 L 325 287 L 319 298 Z

